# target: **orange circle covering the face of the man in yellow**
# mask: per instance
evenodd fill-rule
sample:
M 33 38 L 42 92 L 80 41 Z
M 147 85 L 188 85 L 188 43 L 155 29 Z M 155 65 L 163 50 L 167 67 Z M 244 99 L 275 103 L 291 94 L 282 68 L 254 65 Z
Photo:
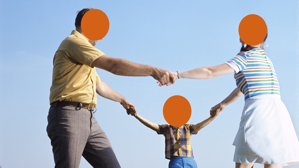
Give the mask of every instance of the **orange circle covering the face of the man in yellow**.
M 89 10 L 82 17 L 81 30 L 88 39 L 101 40 L 109 30 L 107 15 L 99 9 Z

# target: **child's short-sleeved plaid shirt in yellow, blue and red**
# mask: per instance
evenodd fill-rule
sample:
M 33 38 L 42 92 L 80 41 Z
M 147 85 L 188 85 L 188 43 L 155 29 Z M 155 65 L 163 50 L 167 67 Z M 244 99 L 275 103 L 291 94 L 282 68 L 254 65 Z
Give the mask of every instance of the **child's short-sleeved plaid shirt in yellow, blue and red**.
M 185 124 L 181 127 L 173 127 L 172 125 L 159 125 L 160 132 L 165 137 L 165 158 L 170 159 L 171 156 L 187 156 L 194 157 L 191 147 L 190 137 L 194 132 L 193 124 Z

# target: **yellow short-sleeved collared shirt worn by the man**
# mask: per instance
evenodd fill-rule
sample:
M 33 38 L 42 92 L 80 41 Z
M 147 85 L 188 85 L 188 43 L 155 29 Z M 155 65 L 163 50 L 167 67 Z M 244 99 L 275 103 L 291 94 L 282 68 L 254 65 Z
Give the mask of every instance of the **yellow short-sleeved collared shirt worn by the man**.
M 91 64 L 102 55 L 102 51 L 73 30 L 54 55 L 50 104 L 67 100 L 97 105 L 96 86 L 101 80 Z

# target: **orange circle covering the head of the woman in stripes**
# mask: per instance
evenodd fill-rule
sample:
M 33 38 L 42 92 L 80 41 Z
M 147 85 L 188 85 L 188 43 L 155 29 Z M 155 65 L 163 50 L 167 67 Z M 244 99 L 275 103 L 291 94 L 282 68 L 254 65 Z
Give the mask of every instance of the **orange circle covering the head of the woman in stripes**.
M 247 15 L 239 24 L 239 35 L 245 44 L 258 45 L 267 35 L 267 25 L 261 16 Z

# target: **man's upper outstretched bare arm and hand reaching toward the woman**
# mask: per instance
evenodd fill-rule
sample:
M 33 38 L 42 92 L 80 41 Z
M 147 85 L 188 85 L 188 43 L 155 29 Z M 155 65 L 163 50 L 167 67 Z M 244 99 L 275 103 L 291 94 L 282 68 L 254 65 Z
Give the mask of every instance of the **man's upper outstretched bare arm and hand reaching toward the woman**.
M 121 76 L 152 76 L 161 82 L 162 86 L 167 83 L 167 85 L 174 83 L 174 75 L 168 70 L 133 63 L 121 58 L 112 58 L 107 55 L 102 55 L 94 60 L 91 66 Z

